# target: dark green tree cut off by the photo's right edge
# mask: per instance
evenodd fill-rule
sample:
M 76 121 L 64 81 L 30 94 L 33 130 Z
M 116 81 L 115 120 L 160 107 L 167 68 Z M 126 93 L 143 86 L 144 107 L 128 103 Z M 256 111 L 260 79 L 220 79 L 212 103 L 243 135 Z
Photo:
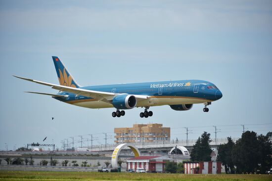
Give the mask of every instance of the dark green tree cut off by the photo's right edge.
M 258 142 L 259 142 L 259 170 L 261 174 L 266 174 L 266 171 L 270 170 L 272 167 L 272 142 L 270 142 L 270 134 L 269 132 L 266 136 L 259 135 Z

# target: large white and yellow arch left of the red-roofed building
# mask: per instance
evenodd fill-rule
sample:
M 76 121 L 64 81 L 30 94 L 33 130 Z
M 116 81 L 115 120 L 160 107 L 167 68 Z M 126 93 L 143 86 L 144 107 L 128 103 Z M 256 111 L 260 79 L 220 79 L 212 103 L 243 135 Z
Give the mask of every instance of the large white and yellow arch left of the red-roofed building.
M 131 143 L 123 143 L 123 144 L 119 144 L 113 151 L 112 156 L 111 156 L 111 165 L 112 168 L 117 168 L 118 166 L 118 156 L 121 152 L 121 150 L 128 146 L 129 148 L 131 148 L 131 150 L 134 152 L 135 157 L 140 156 L 140 152 L 138 150 L 138 148 L 136 148 L 136 146 L 134 144 Z

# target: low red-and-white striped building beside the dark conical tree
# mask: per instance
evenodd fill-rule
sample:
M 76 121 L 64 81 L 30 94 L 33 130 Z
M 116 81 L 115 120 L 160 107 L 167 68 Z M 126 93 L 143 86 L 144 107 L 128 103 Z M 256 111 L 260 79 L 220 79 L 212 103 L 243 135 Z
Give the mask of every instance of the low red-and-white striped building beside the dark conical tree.
M 221 174 L 221 162 L 183 162 L 184 174 Z

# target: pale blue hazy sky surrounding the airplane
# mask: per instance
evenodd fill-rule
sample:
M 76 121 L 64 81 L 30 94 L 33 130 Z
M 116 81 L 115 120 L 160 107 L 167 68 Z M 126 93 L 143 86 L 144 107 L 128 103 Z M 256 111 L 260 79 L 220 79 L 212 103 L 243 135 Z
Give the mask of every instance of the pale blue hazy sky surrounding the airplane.
M 171 139 L 218 138 L 272 131 L 271 0 L 0 0 L 0 150 L 74 136 L 84 146 L 114 143 L 114 128 L 161 123 Z M 113 118 L 114 108 L 65 104 L 57 93 L 12 75 L 58 84 L 59 56 L 82 86 L 205 80 L 223 97 L 203 112 L 152 107 Z M 51 117 L 55 119 L 52 121 Z M 47 139 L 43 142 L 43 139 Z M 89 139 L 89 141 L 88 141 Z M 67 140 L 66 140 L 67 141 Z

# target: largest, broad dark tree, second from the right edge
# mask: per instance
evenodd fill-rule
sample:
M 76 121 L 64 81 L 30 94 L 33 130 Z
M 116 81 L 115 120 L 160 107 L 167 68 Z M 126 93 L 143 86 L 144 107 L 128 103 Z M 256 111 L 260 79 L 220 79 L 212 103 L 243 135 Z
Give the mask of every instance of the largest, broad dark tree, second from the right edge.
M 257 170 L 259 157 L 259 142 L 255 132 L 246 131 L 233 146 L 231 157 L 236 165 L 236 172 L 254 173 Z

